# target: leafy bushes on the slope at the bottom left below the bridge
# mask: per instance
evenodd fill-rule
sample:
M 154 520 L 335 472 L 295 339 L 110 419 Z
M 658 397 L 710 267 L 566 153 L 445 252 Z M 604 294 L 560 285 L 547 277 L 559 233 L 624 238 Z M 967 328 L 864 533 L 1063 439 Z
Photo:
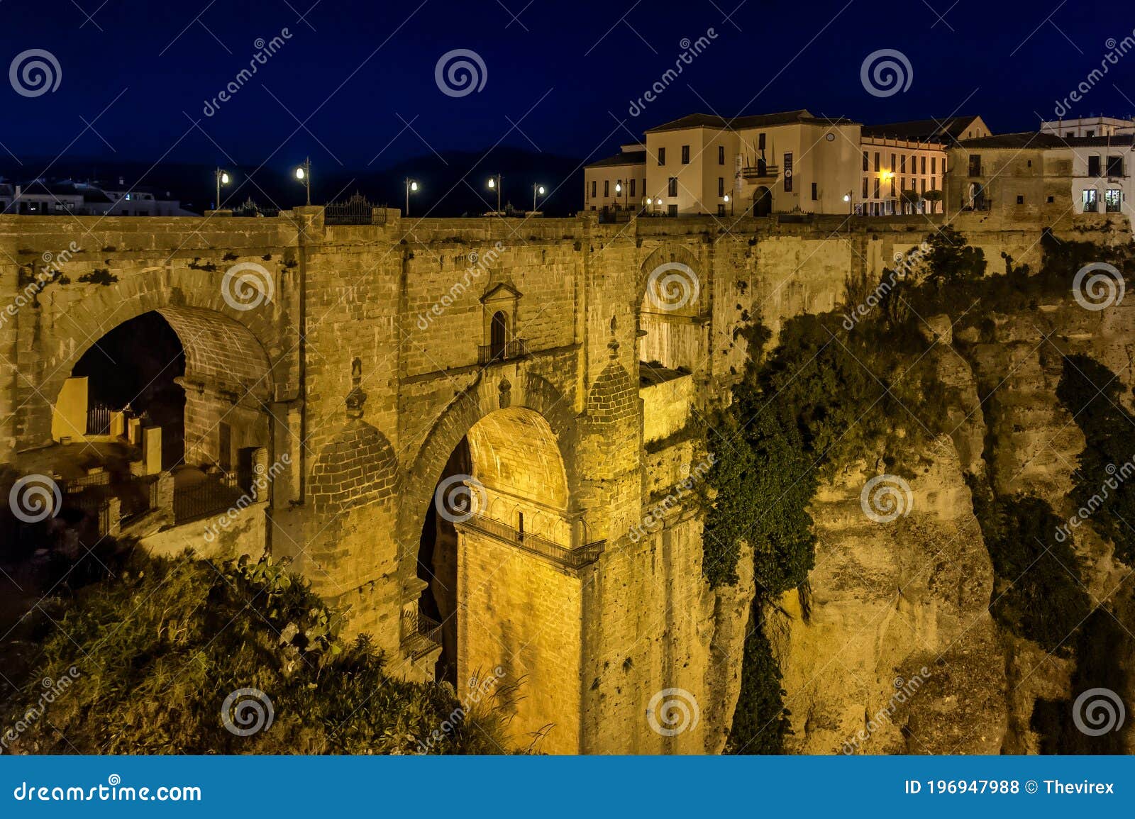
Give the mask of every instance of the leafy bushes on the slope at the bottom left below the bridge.
M 466 715 L 452 689 L 388 675 L 364 638 L 337 636 L 338 613 L 280 564 L 215 567 L 190 556 L 135 552 L 115 573 L 58 603 L 50 620 L 30 626 L 37 628 L 30 636 L 42 650 L 22 693 L 0 703 L 0 723 L 16 726 L 5 736 L 9 752 L 506 748 L 499 712 L 474 707 Z M 56 684 L 50 702 L 41 681 Z M 227 729 L 221 718 L 226 696 L 241 689 L 263 692 L 272 709 L 270 725 L 247 736 Z M 246 702 L 251 709 L 252 699 Z M 242 716 L 254 715 L 237 704 L 230 724 L 243 729 L 249 724 Z

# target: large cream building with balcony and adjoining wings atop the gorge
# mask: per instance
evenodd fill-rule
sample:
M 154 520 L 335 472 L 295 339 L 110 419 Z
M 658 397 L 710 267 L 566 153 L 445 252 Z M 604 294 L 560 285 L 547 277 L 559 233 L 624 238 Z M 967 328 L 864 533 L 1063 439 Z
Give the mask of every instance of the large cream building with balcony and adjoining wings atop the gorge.
M 806 109 L 726 120 L 693 113 L 585 169 L 585 210 L 651 216 L 941 212 L 947 149 L 981 117 L 880 126 Z M 909 192 L 909 193 L 908 193 Z

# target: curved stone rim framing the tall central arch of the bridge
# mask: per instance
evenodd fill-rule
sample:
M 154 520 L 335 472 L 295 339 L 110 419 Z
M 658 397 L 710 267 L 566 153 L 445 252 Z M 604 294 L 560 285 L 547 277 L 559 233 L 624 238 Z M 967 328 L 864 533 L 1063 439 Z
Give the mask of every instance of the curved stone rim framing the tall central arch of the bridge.
M 479 421 L 498 410 L 526 407 L 547 422 L 563 459 L 568 507 L 579 497 L 580 475 L 575 463 L 579 428 L 571 412 L 571 404 L 546 379 L 532 373 L 523 373 L 518 378 L 513 372 L 519 381 L 513 383 L 508 372 L 482 372 L 476 385 L 454 398 L 442 412 L 413 458 L 403 483 L 405 491 L 402 493 L 398 515 L 398 539 L 403 544 L 402 563 L 406 577 L 414 575 L 415 544 L 449 455 Z

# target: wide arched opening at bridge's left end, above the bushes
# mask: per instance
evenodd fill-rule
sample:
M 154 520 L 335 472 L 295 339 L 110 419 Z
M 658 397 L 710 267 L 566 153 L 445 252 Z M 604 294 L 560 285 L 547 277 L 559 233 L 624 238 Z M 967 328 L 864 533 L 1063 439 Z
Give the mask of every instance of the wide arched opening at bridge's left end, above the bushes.
M 56 392 L 52 432 L 83 441 L 76 462 L 102 467 L 104 493 L 121 499 L 124 517 L 155 508 L 157 475 L 173 472 L 174 522 L 186 523 L 233 506 L 251 487 L 269 448 L 271 387 L 247 328 L 216 311 L 167 305 L 79 355 Z

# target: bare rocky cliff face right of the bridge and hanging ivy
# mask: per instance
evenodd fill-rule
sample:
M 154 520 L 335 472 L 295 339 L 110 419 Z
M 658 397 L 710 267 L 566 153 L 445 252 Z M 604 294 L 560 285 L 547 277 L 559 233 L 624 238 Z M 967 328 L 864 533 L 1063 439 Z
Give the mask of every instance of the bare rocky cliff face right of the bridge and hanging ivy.
M 1009 581 L 995 577 L 997 547 L 983 537 L 970 486 L 1040 499 L 1061 520 L 1076 514 L 1070 495 L 1085 438 L 1057 385 L 1069 356 L 1086 355 L 1115 373 L 1130 410 L 1135 299 L 1095 311 L 1070 296 L 1049 298 L 1007 313 L 936 316 L 926 332 L 948 396 L 948 434 L 907 463 L 861 462 L 821 487 L 810 594 L 790 592 L 770 615 L 791 711 L 788 750 L 1099 752 L 1073 728 L 1073 703 L 1094 686 L 1135 702 L 1132 568 L 1086 517 L 1073 547 L 1079 567 L 1069 574 L 1092 614 L 1050 648 L 1014 633 L 991 615 Z M 889 472 L 905 481 L 892 497 L 898 514 L 875 509 L 875 518 L 893 520 L 873 520 L 863 490 Z M 1135 750 L 1129 726 L 1112 742 L 1112 751 Z

